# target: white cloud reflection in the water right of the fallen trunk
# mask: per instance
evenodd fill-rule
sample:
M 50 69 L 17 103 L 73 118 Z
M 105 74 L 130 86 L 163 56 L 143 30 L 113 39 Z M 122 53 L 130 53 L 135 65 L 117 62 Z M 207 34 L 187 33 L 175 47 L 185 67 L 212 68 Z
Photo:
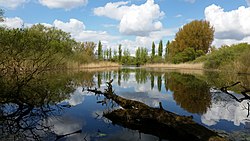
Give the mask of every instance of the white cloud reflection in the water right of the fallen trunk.
M 240 98 L 239 94 L 234 96 Z M 222 99 L 222 100 L 220 100 Z M 248 123 L 247 107 L 248 101 L 237 102 L 231 96 L 224 93 L 214 93 L 212 97 L 212 105 L 208 111 L 201 116 L 202 123 L 211 126 L 216 125 L 221 120 L 232 121 L 234 125 L 246 125 Z

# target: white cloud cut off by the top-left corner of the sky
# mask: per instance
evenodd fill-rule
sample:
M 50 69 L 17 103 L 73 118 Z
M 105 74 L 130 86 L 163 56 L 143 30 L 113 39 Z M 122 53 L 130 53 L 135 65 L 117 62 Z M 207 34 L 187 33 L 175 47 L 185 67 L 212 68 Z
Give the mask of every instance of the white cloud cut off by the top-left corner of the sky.
M 0 0 L 0 6 L 9 9 L 15 9 L 28 1 L 29 0 Z

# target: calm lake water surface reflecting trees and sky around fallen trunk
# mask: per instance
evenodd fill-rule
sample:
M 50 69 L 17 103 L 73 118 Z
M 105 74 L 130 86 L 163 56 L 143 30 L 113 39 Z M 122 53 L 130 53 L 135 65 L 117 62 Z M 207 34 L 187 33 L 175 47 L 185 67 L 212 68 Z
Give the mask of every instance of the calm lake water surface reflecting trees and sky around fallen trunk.
M 250 99 L 236 85 L 230 94 L 218 90 L 237 81 L 250 88 L 249 75 L 175 72 L 122 68 L 110 71 L 53 72 L 24 81 L 1 79 L 1 140 L 160 140 L 112 124 L 103 112 L 120 108 L 86 88 L 104 90 L 113 79 L 115 93 L 179 115 L 216 130 L 232 140 L 250 140 Z M 98 102 L 99 101 L 99 102 Z M 167 134 L 167 133 L 166 133 Z

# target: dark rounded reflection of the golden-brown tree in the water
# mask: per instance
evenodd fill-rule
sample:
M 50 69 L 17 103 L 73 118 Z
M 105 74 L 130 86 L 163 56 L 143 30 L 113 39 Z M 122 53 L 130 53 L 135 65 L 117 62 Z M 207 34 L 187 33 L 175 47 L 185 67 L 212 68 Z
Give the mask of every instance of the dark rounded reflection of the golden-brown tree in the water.
M 190 113 L 204 114 L 211 105 L 208 84 L 189 74 L 170 73 L 167 88 L 173 91 L 174 100 Z

